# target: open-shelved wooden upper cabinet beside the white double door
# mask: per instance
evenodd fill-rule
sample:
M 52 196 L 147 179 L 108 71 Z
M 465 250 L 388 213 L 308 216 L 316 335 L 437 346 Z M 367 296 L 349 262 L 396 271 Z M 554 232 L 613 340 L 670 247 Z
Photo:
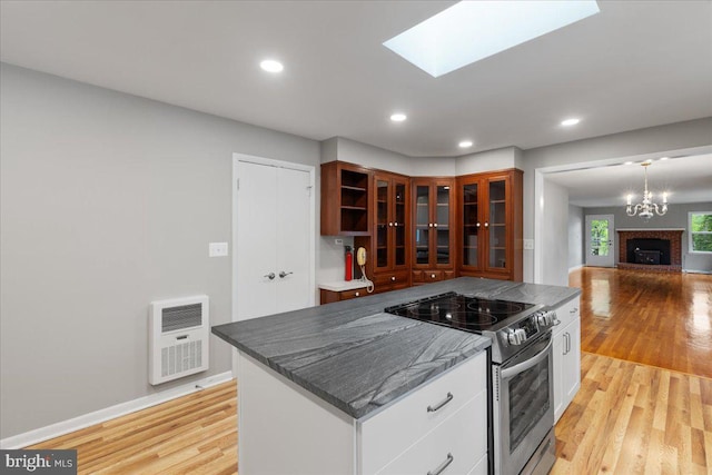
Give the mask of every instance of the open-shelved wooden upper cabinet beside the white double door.
M 322 164 L 322 235 L 370 234 L 372 171 L 343 161 Z

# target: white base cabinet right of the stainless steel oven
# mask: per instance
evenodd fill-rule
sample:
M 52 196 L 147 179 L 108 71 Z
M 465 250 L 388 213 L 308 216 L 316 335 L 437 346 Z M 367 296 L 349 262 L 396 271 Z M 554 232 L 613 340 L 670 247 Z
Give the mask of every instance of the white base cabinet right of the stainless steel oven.
M 554 327 L 554 420 L 558 422 L 581 387 L 581 313 L 575 298 L 556 308 Z

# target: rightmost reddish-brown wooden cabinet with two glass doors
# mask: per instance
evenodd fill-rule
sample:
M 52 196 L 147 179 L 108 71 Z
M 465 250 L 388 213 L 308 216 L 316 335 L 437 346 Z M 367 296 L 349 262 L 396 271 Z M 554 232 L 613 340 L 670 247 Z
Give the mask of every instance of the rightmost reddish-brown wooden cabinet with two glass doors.
M 461 275 L 523 278 L 522 171 L 457 178 Z

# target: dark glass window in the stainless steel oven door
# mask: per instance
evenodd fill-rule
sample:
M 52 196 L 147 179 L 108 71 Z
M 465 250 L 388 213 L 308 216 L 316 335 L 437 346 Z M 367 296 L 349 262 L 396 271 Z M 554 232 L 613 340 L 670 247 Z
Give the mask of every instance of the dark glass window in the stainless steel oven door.
M 510 379 L 510 452 L 514 452 L 550 408 L 548 359 Z

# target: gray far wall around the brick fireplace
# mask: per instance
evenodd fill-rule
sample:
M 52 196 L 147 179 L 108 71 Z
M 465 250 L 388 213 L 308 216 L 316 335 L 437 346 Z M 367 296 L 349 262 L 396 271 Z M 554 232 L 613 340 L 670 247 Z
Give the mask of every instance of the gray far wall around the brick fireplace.
M 613 215 L 615 229 L 660 229 L 682 228 L 682 268 L 690 271 L 712 271 L 712 254 L 691 254 L 688 214 L 690 211 L 712 211 L 712 202 L 669 205 L 665 216 L 655 216 L 645 221 L 637 216 L 627 216 L 624 206 L 584 208 L 584 215 Z M 614 239 L 615 261 L 619 261 L 619 235 Z

